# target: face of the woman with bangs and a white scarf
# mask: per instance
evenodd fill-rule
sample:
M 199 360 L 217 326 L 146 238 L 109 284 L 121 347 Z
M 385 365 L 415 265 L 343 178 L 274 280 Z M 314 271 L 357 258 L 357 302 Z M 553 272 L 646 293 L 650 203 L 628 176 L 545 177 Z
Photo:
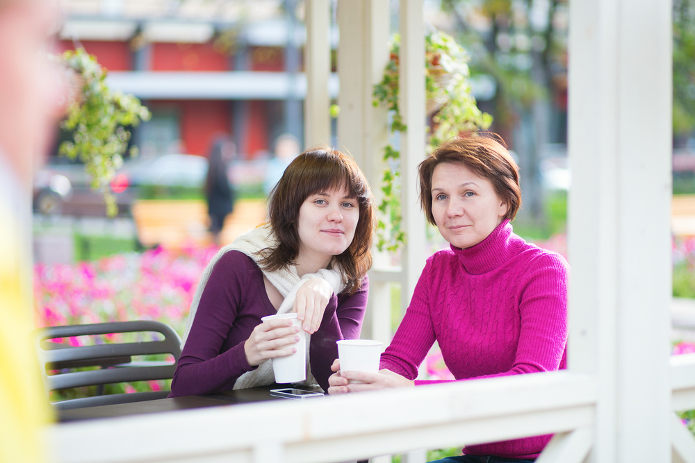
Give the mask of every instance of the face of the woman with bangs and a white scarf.
M 320 268 L 327 267 L 334 255 L 342 254 L 352 243 L 358 220 L 357 198 L 349 196 L 344 187 L 309 195 L 297 218 L 297 261 L 309 259 Z

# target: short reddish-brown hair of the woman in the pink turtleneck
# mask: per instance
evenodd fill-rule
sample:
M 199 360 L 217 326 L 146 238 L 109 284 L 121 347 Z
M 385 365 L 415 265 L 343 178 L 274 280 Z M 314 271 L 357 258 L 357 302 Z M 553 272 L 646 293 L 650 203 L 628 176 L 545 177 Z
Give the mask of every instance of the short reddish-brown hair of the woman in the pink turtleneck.
M 499 141 L 498 141 L 499 140 Z M 490 180 L 499 198 L 507 206 L 504 219 L 514 220 L 521 208 L 519 171 L 512 155 L 499 135 L 485 133 L 457 137 L 442 143 L 429 158 L 420 162 L 420 206 L 432 225 L 432 175 L 440 164 L 462 164 L 475 174 Z

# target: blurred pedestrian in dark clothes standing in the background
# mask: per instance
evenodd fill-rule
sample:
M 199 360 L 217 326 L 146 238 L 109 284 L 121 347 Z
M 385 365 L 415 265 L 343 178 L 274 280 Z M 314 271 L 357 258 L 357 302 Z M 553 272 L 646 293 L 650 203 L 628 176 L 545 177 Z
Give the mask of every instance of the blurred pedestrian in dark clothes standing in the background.
M 227 137 L 215 142 L 208 156 L 208 174 L 205 179 L 205 196 L 208 201 L 210 233 L 213 242 L 220 245 L 220 232 L 224 219 L 234 210 L 234 187 L 229 183 L 229 162 L 236 154 L 236 146 Z

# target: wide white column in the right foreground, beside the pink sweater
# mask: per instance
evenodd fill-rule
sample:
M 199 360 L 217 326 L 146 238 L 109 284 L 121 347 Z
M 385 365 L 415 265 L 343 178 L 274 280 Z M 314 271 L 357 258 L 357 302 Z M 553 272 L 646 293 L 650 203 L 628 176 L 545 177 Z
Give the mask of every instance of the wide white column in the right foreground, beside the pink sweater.
M 591 460 L 667 462 L 671 6 L 570 4 L 569 367 L 600 378 Z

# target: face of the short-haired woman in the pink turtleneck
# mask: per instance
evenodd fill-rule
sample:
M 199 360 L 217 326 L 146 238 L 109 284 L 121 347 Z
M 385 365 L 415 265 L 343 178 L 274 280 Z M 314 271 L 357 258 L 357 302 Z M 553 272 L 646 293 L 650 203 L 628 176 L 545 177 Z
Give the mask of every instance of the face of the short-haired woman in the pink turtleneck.
M 463 164 L 443 163 L 432 174 L 432 215 L 439 233 L 457 248 L 475 246 L 502 222 L 507 204 L 492 183 Z

